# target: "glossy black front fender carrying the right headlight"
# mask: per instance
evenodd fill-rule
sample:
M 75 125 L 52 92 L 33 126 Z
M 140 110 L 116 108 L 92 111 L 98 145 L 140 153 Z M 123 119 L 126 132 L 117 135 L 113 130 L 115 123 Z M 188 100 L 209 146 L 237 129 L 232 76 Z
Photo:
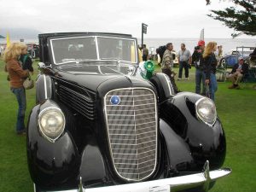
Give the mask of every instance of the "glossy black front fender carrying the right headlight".
M 195 102 L 201 98 L 195 93 L 178 93 L 161 103 L 160 118 L 165 119 L 173 131 L 189 144 L 198 167 L 209 160 L 210 168 L 216 169 L 223 165 L 226 154 L 224 129 L 218 118 L 210 126 L 196 117 Z

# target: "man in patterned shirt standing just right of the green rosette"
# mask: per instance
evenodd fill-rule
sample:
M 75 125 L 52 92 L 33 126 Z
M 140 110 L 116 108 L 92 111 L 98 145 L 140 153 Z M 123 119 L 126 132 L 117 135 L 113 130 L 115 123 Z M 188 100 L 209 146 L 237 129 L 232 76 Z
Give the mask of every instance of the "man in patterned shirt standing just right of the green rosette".
M 163 61 L 162 61 L 162 73 L 166 73 L 166 75 L 168 75 L 168 77 L 171 79 L 173 90 L 175 91 L 175 93 L 177 93 L 180 90 L 177 89 L 177 85 L 175 84 L 175 79 L 174 79 L 175 73 L 172 71 L 172 67 L 173 67 L 172 49 L 173 49 L 172 43 L 166 44 L 166 51 L 163 55 Z

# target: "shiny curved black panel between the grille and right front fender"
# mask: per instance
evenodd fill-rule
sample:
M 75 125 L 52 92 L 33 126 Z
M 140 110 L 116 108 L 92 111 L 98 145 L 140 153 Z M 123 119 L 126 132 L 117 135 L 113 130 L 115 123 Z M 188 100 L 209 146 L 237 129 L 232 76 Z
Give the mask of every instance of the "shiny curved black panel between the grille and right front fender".
M 183 138 L 178 136 L 163 119 L 160 119 L 160 132 L 165 139 L 170 172 L 177 173 L 192 170 L 194 160 L 189 146 Z

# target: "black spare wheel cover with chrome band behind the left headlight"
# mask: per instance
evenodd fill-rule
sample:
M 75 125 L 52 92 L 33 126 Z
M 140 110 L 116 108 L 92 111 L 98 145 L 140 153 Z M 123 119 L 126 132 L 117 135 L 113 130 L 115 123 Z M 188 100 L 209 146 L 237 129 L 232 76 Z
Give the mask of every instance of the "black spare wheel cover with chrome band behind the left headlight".
M 52 98 L 53 82 L 49 75 L 40 74 L 37 79 L 36 86 L 36 103 L 43 103 L 45 100 Z

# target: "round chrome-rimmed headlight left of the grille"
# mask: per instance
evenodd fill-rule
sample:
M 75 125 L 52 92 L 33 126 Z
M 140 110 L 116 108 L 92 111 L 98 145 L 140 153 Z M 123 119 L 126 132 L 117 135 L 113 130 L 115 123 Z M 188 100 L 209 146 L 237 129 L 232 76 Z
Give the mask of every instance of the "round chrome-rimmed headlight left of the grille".
M 39 129 L 50 142 L 61 136 L 65 127 L 65 116 L 60 108 L 45 108 L 39 113 Z

